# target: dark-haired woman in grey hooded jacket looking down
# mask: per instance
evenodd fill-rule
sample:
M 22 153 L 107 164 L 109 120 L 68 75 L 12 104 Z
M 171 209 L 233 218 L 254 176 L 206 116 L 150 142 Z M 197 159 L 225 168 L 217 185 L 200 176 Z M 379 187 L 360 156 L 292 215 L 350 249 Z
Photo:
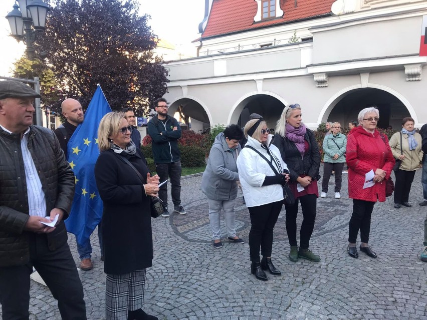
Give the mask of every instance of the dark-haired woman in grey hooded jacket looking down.
M 245 243 L 236 235 L 235 204 L 237 197 L 236 159 L 242 150 L 239 140 L 243 137 L 242 129 L 235 124 L 229 125 L 213 142 L 209 152 L 206 169 L 201 179 L 201 191 L 209 204 L 209 221 L 212 228 L 213 246 L 222 248 L 220 214 L 224 209 L 227 233 L 230 241 Z

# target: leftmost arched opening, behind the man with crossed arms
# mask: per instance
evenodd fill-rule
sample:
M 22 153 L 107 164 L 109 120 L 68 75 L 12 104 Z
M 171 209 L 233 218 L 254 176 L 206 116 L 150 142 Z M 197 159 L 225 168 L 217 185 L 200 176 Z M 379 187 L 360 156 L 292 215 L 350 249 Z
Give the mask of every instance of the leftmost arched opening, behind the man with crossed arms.
M 168 114 L 174 116 L 178 109 L 180 109 L 181 113 L 186 117 L 189 117 L 189 125 L 191 127 L 189 129 L 194 132 L 202 133 L 210 128 L 210 115 L 207 114 L 206 108 L 202 106 L 201 102 L 191 98 L 177 99 L 169 105 Z

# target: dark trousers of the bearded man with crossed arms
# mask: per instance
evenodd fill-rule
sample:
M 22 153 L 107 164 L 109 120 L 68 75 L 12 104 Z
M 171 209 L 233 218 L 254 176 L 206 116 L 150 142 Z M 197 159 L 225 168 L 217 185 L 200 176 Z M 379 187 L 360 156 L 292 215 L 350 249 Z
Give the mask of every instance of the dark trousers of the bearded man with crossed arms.
M 181 204 L 181 161 L 171 163 L 156 163 L 156 172 L 163 182 L 170 177 L 172 202 L 175 206 Z M 167 182 L 159 188 L 159 198 L 167 206 Z

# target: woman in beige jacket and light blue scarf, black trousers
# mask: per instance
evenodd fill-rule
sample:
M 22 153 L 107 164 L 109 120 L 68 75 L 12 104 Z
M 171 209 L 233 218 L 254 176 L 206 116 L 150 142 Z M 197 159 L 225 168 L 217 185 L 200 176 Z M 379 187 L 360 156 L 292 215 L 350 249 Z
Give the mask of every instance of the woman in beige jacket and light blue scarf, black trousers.
M 393 157 L 401 160 L 400 167 L 394 171 L 396 176 L 394 207 L 396 209 L 400 208 L 400 205 L 411 207 L 409 191 L 415 170 L 419 168 L 423 155 L 421 140 L 421 135 L 415 132 L 413 119 L 406 117 L 402 120 L 402 131 L 393 134 L 389 141 Z

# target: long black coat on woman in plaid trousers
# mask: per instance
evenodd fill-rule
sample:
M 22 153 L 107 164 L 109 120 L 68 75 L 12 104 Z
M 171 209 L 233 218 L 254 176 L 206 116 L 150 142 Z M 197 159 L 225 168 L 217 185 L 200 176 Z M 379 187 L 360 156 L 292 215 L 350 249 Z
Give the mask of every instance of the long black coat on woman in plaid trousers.
M 148 168 L 141 151 L 127 159 L 146 179 Z M 104 202 L 102 239 L 104 272 L 124 274 L 151 266 L 153 237 L 150 197 L 133 169 L 112 150 L 101 152 L 95 164 L 95 179 Z

